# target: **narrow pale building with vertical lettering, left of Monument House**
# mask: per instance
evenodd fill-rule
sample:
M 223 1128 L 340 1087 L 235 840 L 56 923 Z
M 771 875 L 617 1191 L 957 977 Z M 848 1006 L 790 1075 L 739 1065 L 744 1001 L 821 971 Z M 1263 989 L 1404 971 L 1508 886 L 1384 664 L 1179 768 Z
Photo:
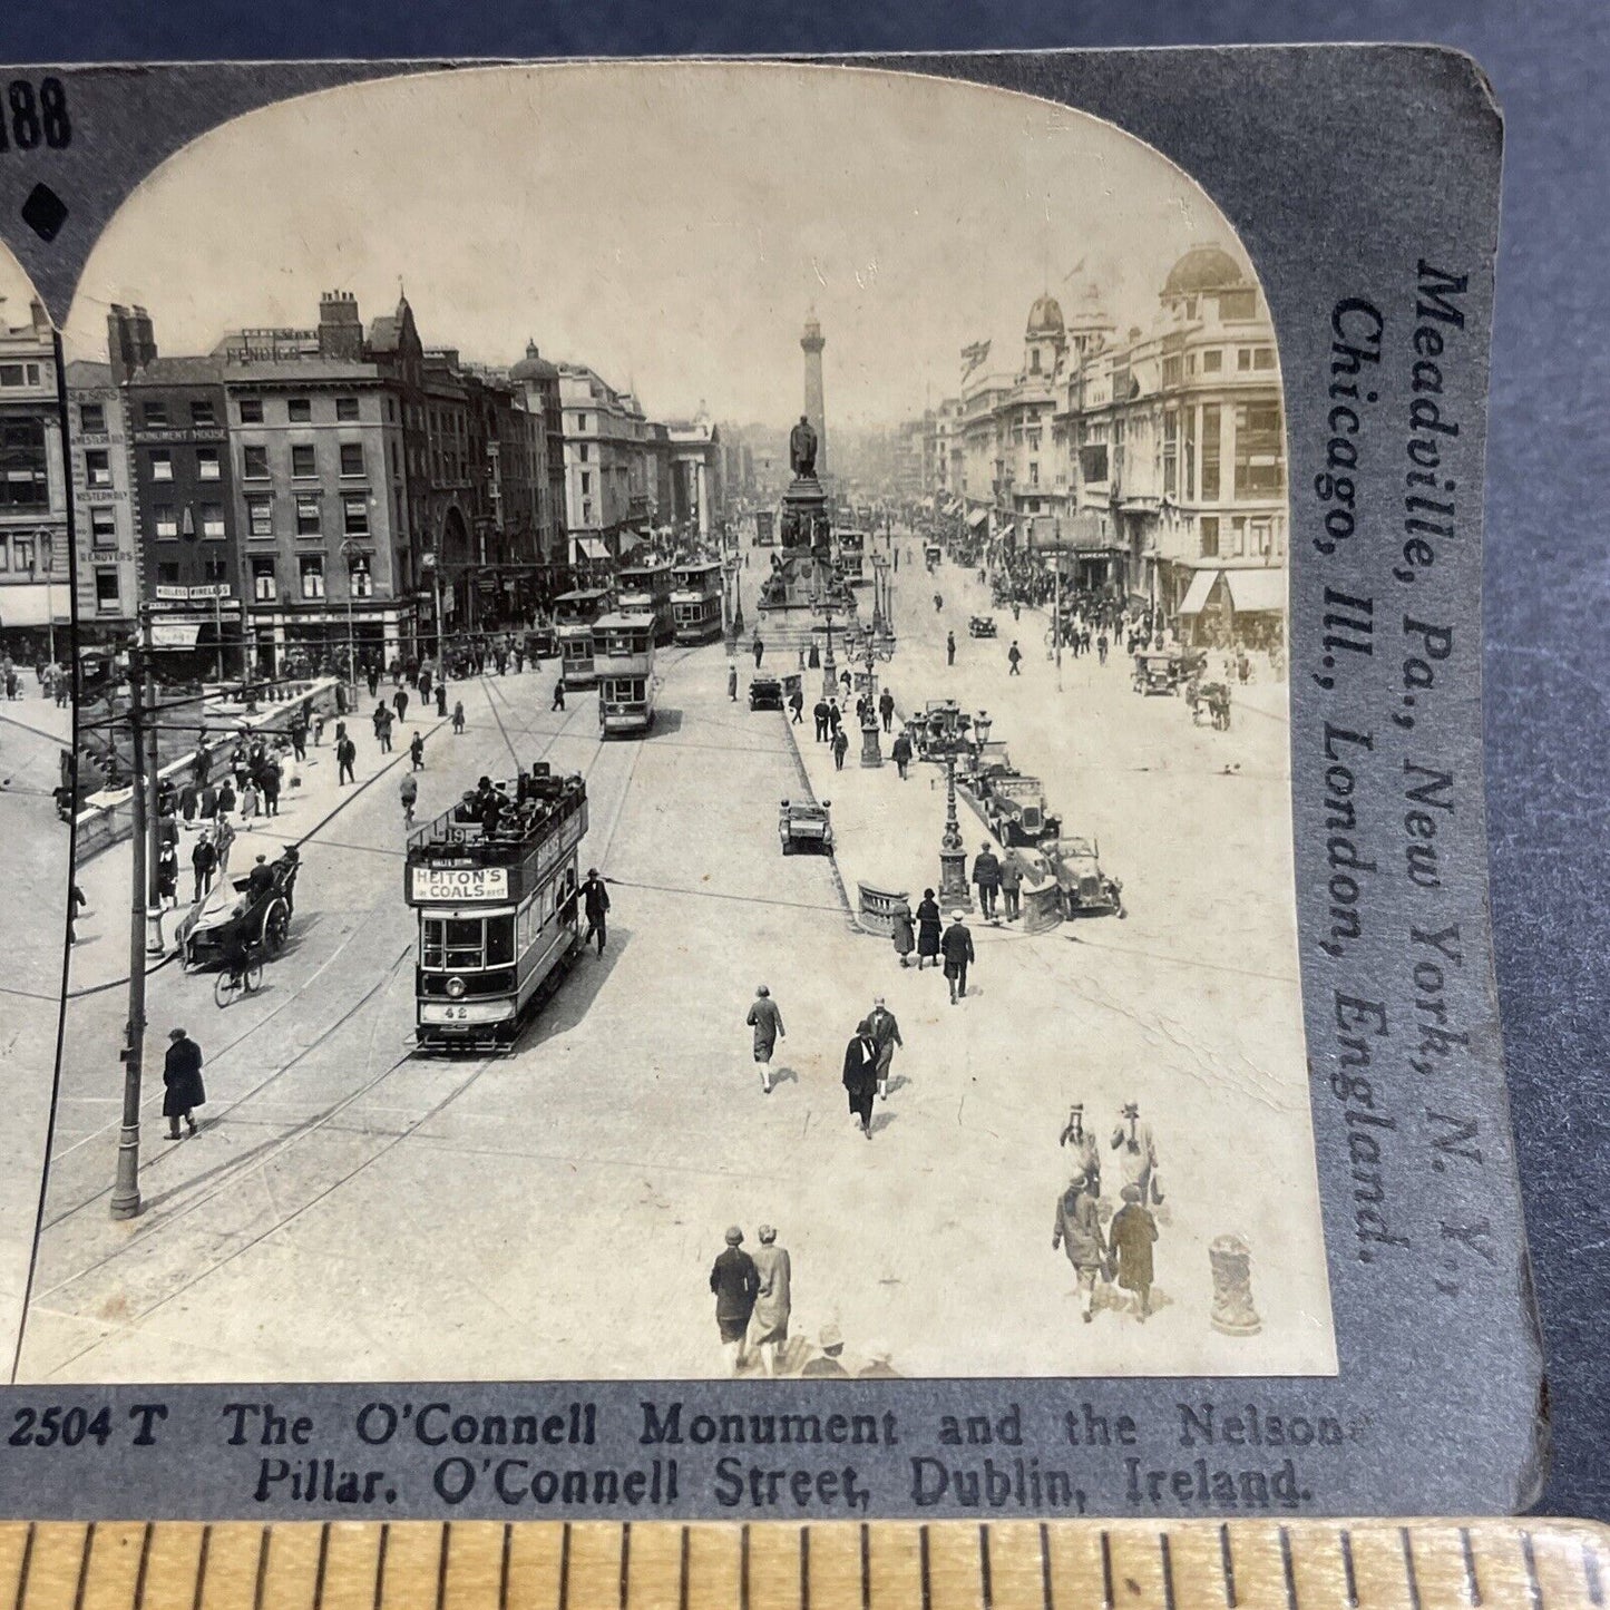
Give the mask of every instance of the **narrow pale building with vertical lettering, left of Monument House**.
M 140 617 L 140 568 L 129 415 L 111 364 L 68 364 L 68 449 L 79 641 L 121 641 Z

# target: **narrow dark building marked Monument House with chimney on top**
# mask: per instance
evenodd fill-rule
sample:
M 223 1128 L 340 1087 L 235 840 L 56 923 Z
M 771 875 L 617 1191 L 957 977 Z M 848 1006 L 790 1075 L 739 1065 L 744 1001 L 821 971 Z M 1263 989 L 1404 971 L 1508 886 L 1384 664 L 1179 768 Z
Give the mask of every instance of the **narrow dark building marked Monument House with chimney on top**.
M 129 420 L 140 607 L 158 673 L 238 675 L 245 607 L 222 359 L 159 356 L 143 308 L 114 304 L 106 330 Z

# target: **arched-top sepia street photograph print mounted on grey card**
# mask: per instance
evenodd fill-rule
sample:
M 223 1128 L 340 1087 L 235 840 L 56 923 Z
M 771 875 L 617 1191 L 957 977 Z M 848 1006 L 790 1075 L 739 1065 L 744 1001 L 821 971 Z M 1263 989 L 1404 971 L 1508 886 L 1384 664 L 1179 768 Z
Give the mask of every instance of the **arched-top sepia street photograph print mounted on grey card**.
M 82 689 L 16 1381 L 1335 1373 L 1282 361 L 1190 174 L 918 74 L 401 76 L 130 193 L 64 441 L 0 312 L 31 774 L 47 481 Z

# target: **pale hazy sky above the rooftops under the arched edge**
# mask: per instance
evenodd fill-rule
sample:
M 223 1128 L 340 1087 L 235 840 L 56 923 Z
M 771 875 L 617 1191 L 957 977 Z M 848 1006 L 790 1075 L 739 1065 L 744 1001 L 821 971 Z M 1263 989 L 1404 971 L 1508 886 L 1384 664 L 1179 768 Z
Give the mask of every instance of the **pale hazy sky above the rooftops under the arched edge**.
M 404 287 L 425 343 L 465 359 L 535 338 L 652 417 L 781 425 L 815 308 L 829 428 L 887 425 L 955 393 L 971 341 L 1014 370 L 1043 290 L 1148 325 L 1203 242 L 1245 261 L 1150 147 L 1006 90 L 758 63 L 469 69 L 285 101 L 177 153 L 108 225 L 66 338 L 105 359 L 108 304 L 142 303 L 163 353 L 203 353 L 311 327 L 325 290 L 367 322 Z

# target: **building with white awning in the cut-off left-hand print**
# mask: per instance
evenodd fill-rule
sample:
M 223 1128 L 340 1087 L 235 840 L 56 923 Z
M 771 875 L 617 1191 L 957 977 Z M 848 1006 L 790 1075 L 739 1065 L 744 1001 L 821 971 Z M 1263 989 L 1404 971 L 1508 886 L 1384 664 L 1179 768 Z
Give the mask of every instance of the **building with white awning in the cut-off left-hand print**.
M 24 663 L 66 654 L 72 623 L 55 336 L 29 314 L 0 328 L 0 647 Z

